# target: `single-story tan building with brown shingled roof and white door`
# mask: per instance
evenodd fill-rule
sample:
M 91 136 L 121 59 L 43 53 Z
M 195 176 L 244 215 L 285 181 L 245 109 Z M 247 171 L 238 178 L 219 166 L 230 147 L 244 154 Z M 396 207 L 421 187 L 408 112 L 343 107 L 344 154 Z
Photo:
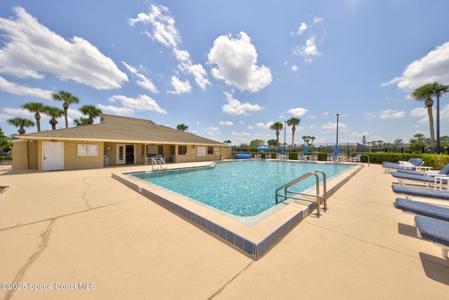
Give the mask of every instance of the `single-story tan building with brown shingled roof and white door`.
M 81 170 L 108 165 L 218 161 L 231 158 L 227 144 L 153 121 L 102 114 L 100 123 L 46 130 L 13 139 L 13 169 Z

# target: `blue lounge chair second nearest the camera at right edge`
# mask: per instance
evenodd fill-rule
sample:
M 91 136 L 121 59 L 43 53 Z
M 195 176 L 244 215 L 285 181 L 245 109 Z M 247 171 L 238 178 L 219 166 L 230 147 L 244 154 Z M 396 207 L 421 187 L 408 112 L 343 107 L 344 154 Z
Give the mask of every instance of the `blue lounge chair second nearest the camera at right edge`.
M 403 198 L 396 198 L 394 206 L 403 212 L 449 221 L 449 207 L 432 205 L 429 203 Z

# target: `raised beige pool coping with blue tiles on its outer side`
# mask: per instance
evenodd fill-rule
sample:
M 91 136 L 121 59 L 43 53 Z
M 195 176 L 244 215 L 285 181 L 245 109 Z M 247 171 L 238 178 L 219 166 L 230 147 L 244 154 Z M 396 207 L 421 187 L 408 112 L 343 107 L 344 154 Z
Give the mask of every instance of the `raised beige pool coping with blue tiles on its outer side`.
M 203 166 L 212 164 L 213 162 L 209 162 Z M 361 164 L 354 165 L 354 168 L 349 168 L 326 182 L 328 198 L 361 168 L 363 168 Z M 257 224 L 248 226 L 193 203 L 168 189 L 143 182 L 126 173 L 112 173 L 112 177 L 255 260 L 260 259 L 297 224 L 316 210 L 316 203 L 299 201 L 283 203 L 286 207 L 258 221 Z

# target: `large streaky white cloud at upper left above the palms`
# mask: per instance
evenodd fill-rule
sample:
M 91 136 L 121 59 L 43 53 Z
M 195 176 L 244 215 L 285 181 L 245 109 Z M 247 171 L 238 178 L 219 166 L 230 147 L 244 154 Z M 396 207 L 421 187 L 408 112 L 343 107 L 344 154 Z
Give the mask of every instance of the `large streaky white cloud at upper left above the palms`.
M 18 78 L 43 79 L 44 72 L 98 90 L 121 88 L 128 81 L 114 62 L 79 36 L 67 41 L 39 23 L 25 9 L 13 9 L 15 18 L 0 18 L 8 41 L 0 49 L 0 73 Z M 64 53 L 64 55 L 61 55 Z

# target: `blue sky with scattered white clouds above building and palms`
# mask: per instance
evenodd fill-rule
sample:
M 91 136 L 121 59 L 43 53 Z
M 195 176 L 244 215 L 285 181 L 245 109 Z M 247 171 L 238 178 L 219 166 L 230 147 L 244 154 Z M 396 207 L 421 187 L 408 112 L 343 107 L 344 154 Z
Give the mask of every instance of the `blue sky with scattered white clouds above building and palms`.
M 333 144 L 337 113 L 339 142 L 429 137 L 424 103 L 409 94 L 449 84 L 448 11 L 445 0 L 2 0 L 0 128 L 34 120 L 26 102 L 62 108 L 51 92 L 65 90 L 80 99 L 70 126 L 93 104 L 237 145 L 275 139 L 269 126 L 291 117 L 295 144 Z

